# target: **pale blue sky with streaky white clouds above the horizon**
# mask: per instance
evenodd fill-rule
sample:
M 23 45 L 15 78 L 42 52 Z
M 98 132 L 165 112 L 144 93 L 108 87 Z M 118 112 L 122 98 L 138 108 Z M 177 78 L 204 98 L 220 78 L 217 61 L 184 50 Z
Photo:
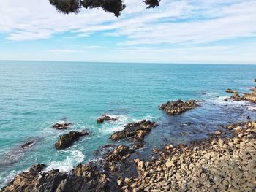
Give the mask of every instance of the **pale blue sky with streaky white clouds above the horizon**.
M 0 60 L 256 64 L 256 0 L 124 0 L 56 12 L 48 0 L 0 0 Z

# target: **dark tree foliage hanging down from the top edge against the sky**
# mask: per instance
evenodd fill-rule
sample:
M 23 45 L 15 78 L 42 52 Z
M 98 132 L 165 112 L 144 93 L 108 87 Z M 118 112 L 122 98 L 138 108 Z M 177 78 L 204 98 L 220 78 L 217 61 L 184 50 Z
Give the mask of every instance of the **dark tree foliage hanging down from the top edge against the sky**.
M 145 0 L 146 8 L 159 6 L 160 0 Z M 50 4 L 56 7 L 59 12 L 68 14 L 69 12 L 78 13 L 81 7 L 86 9 L 102 8 L 105 12 L 112 12 L 116 17 L 121 15 L 125 9 L 122 0 L 50 0 Z

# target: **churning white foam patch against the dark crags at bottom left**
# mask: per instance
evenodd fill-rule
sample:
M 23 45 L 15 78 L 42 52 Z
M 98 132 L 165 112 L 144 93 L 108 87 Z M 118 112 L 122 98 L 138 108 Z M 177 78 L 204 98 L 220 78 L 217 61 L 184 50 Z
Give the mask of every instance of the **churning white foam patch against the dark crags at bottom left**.
M 80 150 L 72 150 L 64 161 L 50 161 L 45 172 L 53 169 L 59 169 L 61 172 L 69 172 L 75 165 L 83 162 L 84 158 L 85 156 Z

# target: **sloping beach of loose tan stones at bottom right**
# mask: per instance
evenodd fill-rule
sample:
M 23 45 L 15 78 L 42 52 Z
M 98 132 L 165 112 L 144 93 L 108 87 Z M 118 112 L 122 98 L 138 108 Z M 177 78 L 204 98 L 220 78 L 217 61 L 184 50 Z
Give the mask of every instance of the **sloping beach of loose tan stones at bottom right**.
M 255 191 L 256 122 L 228 126 L 233 137 L 167 145 L 159 158 L 136 161 L 139 177 L 118 178 L 120 191 Z

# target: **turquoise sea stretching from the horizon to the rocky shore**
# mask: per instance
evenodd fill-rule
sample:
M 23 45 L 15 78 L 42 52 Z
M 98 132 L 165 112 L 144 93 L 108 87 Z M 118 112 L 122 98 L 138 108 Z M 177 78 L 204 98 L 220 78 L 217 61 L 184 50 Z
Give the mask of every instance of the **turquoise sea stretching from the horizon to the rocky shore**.
M 223 101 L 229 96 L 226 88 L 249 91 L 255 77 L 255 65 L 0 61 L 0 187 L 36 163 L 69 170 L 101 157 L 100 146 L 116 144 L 110 134 L 135 120 L 159 123 L 140 150 L 146 157 L 152 147 L 165 142 L 200 139 L 246 115 L 256 119 L 248 110 L 252 104 Z M 174 99 L 199 99 L 202 106 L 167 117 L 158 106 Z M 96 118 L 104 113 L 119 120 L 97 124 Z M 52 128 L 59 120 L 72 123 L 72 128 Z M 187 122 L 192 126 L 182 126 Z M 70 130 L 87 130 L 90 136 L 67 150 L 56 150 L 56 139 Z M 21 150 L 20 145 L 30 140 L 36 144 Z

